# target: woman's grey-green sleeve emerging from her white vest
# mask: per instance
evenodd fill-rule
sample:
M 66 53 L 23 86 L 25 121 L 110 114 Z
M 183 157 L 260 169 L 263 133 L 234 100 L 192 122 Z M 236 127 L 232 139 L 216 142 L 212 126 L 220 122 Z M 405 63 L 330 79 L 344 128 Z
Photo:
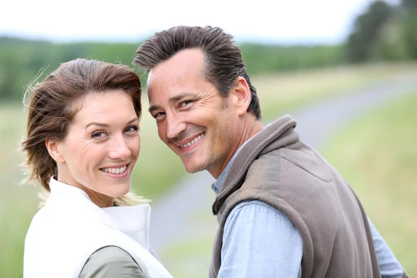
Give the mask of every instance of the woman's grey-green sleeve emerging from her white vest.
M 79 278 L 146 278 L 129 253 L 117 246 L 106 246 L 88 258 Z

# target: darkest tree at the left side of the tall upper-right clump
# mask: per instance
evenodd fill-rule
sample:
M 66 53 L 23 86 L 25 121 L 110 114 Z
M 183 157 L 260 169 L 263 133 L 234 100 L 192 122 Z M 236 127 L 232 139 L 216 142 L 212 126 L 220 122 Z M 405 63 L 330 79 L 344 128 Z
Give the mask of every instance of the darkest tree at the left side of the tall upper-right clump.
M 366 13 L 354 21 L 354 30 L 347 39 L 347 57 L 354 63 L 364 62 L 372 49 L 384 23 L 393 15 L 393 8 L 385 1 L 374 1 Z

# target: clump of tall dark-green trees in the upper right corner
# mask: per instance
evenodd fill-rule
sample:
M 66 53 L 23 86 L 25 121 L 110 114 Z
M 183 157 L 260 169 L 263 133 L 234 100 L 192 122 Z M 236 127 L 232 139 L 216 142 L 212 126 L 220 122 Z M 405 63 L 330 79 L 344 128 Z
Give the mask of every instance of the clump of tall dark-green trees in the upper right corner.
M 417 60 L 417 0 L 398 6 L 374 1 L 354 20 L 346 42 L 347 60 Z

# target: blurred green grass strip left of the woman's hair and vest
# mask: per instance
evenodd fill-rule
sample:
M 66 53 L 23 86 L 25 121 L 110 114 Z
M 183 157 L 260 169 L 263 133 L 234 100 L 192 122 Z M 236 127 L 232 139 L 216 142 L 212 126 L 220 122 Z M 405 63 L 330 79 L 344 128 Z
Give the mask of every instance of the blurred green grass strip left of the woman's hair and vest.
M 17 104 L 0 109 L 0 277 L 22 277 L 24 236 L 38 205 L 33 186 L 19 186 L 23 156 L 17 151 L 24 113 Z

